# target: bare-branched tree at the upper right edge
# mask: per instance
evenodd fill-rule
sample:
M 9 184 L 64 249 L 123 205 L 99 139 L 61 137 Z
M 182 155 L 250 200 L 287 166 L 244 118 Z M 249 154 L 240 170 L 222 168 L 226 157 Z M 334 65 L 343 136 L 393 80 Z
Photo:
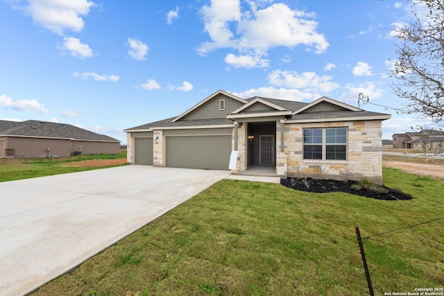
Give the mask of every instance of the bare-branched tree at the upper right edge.
M 444 119 L 444 1 L 405 0 L 415 21 L 396 28 L 398 46 L 391 73 L 393 92 L 406 98 L 407 114 Z M 427 9 L 426 9 L 427 8 Z

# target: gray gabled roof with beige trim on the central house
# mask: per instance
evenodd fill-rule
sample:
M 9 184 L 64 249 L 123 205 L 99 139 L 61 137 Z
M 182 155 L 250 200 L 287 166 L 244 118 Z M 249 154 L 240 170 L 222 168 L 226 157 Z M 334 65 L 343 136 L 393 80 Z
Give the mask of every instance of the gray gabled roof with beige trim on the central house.
M 187 119 L 191 112 L 208 103 L 212 98 L 219 95 L 227 96 L 241 102 L 241 107 L 228 113 L 223 118 L 195 118 Z M 211 104 L 211 103 L 210 103 Z M 146 123 L 128 128 L 124 132 L 142 132 L 152 130 L 166 130 L 170 128 L 223 128 L 232 126 L 233 121 L 274 121 L 285 119 L 286 123 L 309 123 L 326 121 L 362 121 L 362 120 L 385 120 L 390 119 L 390 114 L 379 112 L 369 112 L 352 105 L 341 103 L 327 98 L 325 96 L 318 98 L 311 103 L 297 101 L 280 100 L 277 98 L 264 98 L 254 96 L 252 98 L 242 99 L 223 90 L 218 90 L 211 96 L 208 96 L 200 103 L 194 105 L 186 112 L 171 119 Z

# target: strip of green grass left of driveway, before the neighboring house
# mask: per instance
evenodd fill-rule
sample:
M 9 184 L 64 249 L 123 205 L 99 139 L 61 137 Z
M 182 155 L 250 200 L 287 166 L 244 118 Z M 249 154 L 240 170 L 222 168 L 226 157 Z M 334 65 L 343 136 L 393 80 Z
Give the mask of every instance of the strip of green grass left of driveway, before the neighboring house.
M 118 154 L 83 155 L 62 158 L 39 159 L 0 159 L 0 182 L 44 177 L 64 173 L 90 171 L 110 166 L 67 166 L 75 162 L 84 162 L 90 159 L 123 159 L 126 151 Z

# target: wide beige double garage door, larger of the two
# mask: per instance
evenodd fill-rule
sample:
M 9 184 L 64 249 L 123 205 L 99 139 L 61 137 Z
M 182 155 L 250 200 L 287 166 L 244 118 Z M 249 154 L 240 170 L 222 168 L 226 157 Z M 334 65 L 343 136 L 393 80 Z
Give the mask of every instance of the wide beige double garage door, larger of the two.
M 228 170 L 231 136 L 167 137 L 166 165 Z

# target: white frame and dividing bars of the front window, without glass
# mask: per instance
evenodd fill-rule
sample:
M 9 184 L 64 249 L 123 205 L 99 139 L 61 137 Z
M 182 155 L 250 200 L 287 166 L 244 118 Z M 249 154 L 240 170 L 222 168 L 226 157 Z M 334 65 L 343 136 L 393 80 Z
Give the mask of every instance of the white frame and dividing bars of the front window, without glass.
M 306 130 L 316 130 L 316 134 L 313 132 L 310 135 L 310 140 L 307 141 L 306 143 L 306 136 L 305 136 L 305 131 Z M 327 130 L 345 130 L 345 135 L 343 134 L 339 134 L 336 135 L 337 131 L 335 132 L 334 135 L 334 142 L 332 143 L 327 143 Z M 321 136 L 322 136 L 322 140 L 321 142 L 319 141 L 319 132 L 321 131 Z M 331 139 L 331 135 L 330 139 Z M 345 141 L 344 142 L 338 142 L 337 138 L 341 138 L 341 137 L 345 137 Z M 311 146 L 311 151 L 307 151 L 305 150 L 306 147 Z M 327 146 L 345 146 L 345 158 L 344 159 L 327 159 Z M 319 152 L 319 147 L 321 147 L 321 152 Z M 316 150 L 316 151 L 315 151 Z M 306 153 L 311 154 L 312 158 L 305 158 Z M 341 152 L 334 152 L 335 157 L 337 157 L 337 153 L 341 153 Z M 319 157 L 314 157 L 314 156 L 319 156 L 321 155 L 321 158 Z M 302 160 L 304 161 L 322 161 L 322 162 L 346 162 L 348 161 L 348 128 L 347 127 L 337 127 L 337 128 L 302 128 Z

